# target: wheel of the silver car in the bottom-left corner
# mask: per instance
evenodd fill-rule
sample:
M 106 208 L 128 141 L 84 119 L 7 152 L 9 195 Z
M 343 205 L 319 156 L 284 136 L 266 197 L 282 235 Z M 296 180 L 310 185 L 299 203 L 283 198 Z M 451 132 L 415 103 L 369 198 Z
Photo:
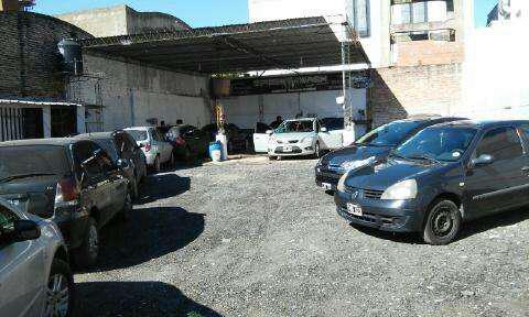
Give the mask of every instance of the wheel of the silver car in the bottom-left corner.
M 74 275 L 68 263 L 54 259 L 47 278 L 44 316 L 68 317 L 74 308 Z

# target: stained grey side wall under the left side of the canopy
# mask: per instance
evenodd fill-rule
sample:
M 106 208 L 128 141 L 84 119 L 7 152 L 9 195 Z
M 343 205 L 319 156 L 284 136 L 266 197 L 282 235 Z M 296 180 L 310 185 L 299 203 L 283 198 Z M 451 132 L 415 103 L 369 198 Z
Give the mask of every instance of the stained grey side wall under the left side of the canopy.
M 87 74 L 71 84 L 72 100 L 102 105 L 104 130 L 147 125 L 148 119 L 198 127 L 210 122 L 208 78 L 85 54 Z M 204 97 L 206 96 L 206 98 Z

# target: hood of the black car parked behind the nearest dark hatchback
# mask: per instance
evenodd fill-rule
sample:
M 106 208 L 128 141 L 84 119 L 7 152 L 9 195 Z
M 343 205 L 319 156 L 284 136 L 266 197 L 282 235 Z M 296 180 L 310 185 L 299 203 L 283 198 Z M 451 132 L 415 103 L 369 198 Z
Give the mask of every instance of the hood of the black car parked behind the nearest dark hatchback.
M 385 158 L 389 152 L 391 152 L 389 146 L 353 145 L 327 154 L 323 163 L 339 166 L 344 162 L 364 161 L 369 157 L 375 157 L 378 161 Z

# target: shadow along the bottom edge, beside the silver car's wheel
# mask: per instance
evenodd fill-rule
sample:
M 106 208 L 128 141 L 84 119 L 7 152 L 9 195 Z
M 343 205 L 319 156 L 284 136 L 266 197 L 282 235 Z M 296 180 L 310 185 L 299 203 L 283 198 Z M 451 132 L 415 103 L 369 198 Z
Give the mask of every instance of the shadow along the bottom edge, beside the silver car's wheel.
M 218 313 L 160 282 L 78 283 L 75 316 L 185 316 L 216 317 Z

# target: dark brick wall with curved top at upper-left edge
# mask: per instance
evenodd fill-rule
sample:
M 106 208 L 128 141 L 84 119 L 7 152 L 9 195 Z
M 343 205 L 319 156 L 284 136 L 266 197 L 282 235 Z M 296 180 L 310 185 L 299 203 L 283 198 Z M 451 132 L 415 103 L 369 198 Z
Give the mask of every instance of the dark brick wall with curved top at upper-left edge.
M 64 79 L 57 43 L 88 36 L 52 17 L 0 13 L 0 95 L 60 97 Z

